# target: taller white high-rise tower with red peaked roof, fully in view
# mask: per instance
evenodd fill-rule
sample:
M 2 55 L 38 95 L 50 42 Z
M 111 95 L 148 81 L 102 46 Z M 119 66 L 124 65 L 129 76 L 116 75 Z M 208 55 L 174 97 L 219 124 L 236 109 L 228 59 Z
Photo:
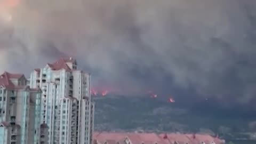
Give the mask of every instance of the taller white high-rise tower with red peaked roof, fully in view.
M 90 74 L 73 58 L 47 63 L 30 75 L 30 86 L 42 90 L 41 123 L 49 126 L 49 143 L 91 144 L 94 102 Z

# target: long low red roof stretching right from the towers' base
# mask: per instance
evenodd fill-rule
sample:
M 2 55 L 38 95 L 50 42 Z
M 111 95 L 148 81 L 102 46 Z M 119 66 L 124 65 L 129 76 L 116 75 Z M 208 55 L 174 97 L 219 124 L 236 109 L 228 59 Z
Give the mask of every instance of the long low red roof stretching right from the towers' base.
M 167 138 L 164 139 L 164 137 Z M 132 144 L 141 144 L 142 142 L 145 144 L 173 144 L 175 141 L 179 144 L 198 144 L 202 141 L 206 143 L 215 142 L 216 144 L 223 143 L 223 140 L 218 138 L 213 138 L 211 135 L 204 135 L 204 134 L 196 134 L 196 137 L 193 138 L 193 134 L 180 134 L 180 133 L 163 133 L 163 134 L 156 134 L 156 133 L 93 133 L 93 138 L 99 141 L 101 144 L 104 142 L 111 143 L 113 141 L 119 142 L 122 144 L 125 138 L 128 138 Z M 111 144 L 109 142 L 109 144 Z

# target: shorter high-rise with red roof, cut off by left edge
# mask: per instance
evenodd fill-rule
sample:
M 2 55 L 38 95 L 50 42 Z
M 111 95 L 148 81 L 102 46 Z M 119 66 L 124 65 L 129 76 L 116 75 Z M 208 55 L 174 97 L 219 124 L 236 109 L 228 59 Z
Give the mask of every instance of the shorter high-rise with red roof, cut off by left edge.
M 22 74 L 0 75 L 0 144 L 46 143 L 41 124 L 41 90 L 30 89 Z

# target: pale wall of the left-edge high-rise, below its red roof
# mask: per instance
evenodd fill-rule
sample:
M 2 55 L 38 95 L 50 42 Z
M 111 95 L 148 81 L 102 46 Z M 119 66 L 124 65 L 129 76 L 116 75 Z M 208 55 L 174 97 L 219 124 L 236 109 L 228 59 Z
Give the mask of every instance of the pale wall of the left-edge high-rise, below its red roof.
M 39 128 L 39 125 L 35 123 L 36 103 L 33 102 L 34 97 L 39 92 L 31 93 L 29 87 L 22 90 L 6 90 L 0 88 L 0 91 L 2 91 L 0 95 L 0 122 L 8 124 L 3 129 L 1 127 L 0 130 L 6 138 L 4 141 L 7 143 L 28 144 L 39 142 L 35 134 L 35 131 Z

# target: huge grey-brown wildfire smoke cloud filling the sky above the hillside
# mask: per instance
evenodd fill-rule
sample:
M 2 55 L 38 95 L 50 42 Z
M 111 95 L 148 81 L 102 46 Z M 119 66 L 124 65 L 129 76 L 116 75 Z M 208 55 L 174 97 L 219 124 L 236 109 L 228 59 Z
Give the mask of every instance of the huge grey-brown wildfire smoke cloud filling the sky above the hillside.
M 1 22 L 0 70 L 29 73 L 71 55 L 95 85 L 174 85 L 247 103 L 256 86 L 255 8 L 253 0 L 23 0 L 13 21 Z

